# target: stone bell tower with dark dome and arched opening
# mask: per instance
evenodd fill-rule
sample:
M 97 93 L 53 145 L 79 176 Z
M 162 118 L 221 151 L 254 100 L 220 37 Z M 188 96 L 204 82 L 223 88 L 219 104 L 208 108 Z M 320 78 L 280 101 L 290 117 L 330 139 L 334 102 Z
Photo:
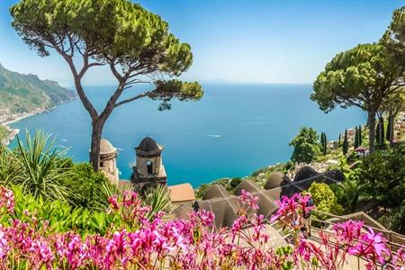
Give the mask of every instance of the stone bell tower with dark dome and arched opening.
M 162 162 L 162 150 L 163 147 L 150 137 L 142 139 L 135 148 L 137 163 L 132 167 L 132 183 L 139 193 L 148 185 L 166 185 L 167 175 Z

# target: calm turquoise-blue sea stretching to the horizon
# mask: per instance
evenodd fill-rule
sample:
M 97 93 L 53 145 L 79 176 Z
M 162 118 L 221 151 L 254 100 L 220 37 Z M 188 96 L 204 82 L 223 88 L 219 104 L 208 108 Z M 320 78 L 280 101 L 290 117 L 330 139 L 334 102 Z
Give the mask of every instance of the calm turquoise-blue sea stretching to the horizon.
M 309 98 L 311 85 L 206 84 L 203 88 L 201 101 L 174 102 L 170 111 L 159 112 L 157 102 L 145 99 L 112 112 L 103 137 L 121 149 L 121 178 L 130 177 L 130 166 L 135 161 L 133 148 L 147 135 L 165 146 L 163 162 L 168 183 L 190 182 L 196 187 L 224 176 L 249 175 L 260 167 L 288 160 L 292 152 L 288 142 L 302 126 L 325 131 L 329 139 L 337 139 L 340 131 L 366 119 L 358 109 L 321 112 Z M 111 89 L 86 87 L 98 108 Z M 57 143 L 69 147 L 69 156 L 75 161 L 88 158 L 90 117 L 79 100 L 12 126 L 57 135 Z

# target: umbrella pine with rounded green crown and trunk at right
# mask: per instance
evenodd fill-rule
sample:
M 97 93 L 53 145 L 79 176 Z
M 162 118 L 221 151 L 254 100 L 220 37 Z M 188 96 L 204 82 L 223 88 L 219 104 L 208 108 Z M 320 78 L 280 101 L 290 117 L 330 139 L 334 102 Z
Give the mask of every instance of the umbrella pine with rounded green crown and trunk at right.
M 403 63 L 394 65 L 381 43 L 360 44 L 338 53 L 313 83 L 311 100 L 324 112 L 337 106 L 357 106 L 367 112 L 370 151 L 374 151 L 375 114 L 383 98 L 399 92 L 392 87 L 403 79 Z M 382 98 L 375 98 L 381 96 Z

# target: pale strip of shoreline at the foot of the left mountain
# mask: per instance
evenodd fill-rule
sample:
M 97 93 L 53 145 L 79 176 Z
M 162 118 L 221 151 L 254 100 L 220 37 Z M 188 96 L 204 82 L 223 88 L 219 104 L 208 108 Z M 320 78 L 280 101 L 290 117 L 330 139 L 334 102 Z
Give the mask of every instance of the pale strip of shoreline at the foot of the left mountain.
M 19 114 L 9 115 L 8 117 L 6 117 L 5 121 L 0 122 L 0 125 L 4 126 L 4 128 L 9 130 L 10 133 L 7 135 L 6 138 L 2 139 L 0 142 L 2 144 L 4 144 L 5 146 L 8 146 L 10 144 L 10 142 L 13 139 L 15 139 L 15 137 L 18 135 L 18 133 L 20 133 L 19 129 L 13 129 L 12 127 L 10 127 L 10 124 L 17 122 L 17 121 L 22 121 L 23 119 L 34 116 L 34 115 L 50 112 L 50 111 L 56 109 L 58 107 L 58 105 L 73 101 L 75 99 L 76 99 L 76 97 L 70 98 L 66 101 L 58 103 L 57 105 L 53 106 L 52 108 L 35 108 L 31 112 L 23 112 L 23 113 L 19 113 Z

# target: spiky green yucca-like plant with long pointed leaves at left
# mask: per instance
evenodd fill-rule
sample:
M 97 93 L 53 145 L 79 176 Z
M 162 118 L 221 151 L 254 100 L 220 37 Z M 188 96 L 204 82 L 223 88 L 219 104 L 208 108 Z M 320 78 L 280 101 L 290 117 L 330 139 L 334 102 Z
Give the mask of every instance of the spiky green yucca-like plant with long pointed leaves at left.
M 36 131 L 33 138 L 26 131 L 25 146 L 17 138 L 14 163 L 18 168 L 15 184 L 22 184 L 24 193 L 45 200 L 66 201 L 69 192 L 61 179 L 69 175 L 66 159 L 62 159 L 66 150 L 54 147 L 49 135 Z

